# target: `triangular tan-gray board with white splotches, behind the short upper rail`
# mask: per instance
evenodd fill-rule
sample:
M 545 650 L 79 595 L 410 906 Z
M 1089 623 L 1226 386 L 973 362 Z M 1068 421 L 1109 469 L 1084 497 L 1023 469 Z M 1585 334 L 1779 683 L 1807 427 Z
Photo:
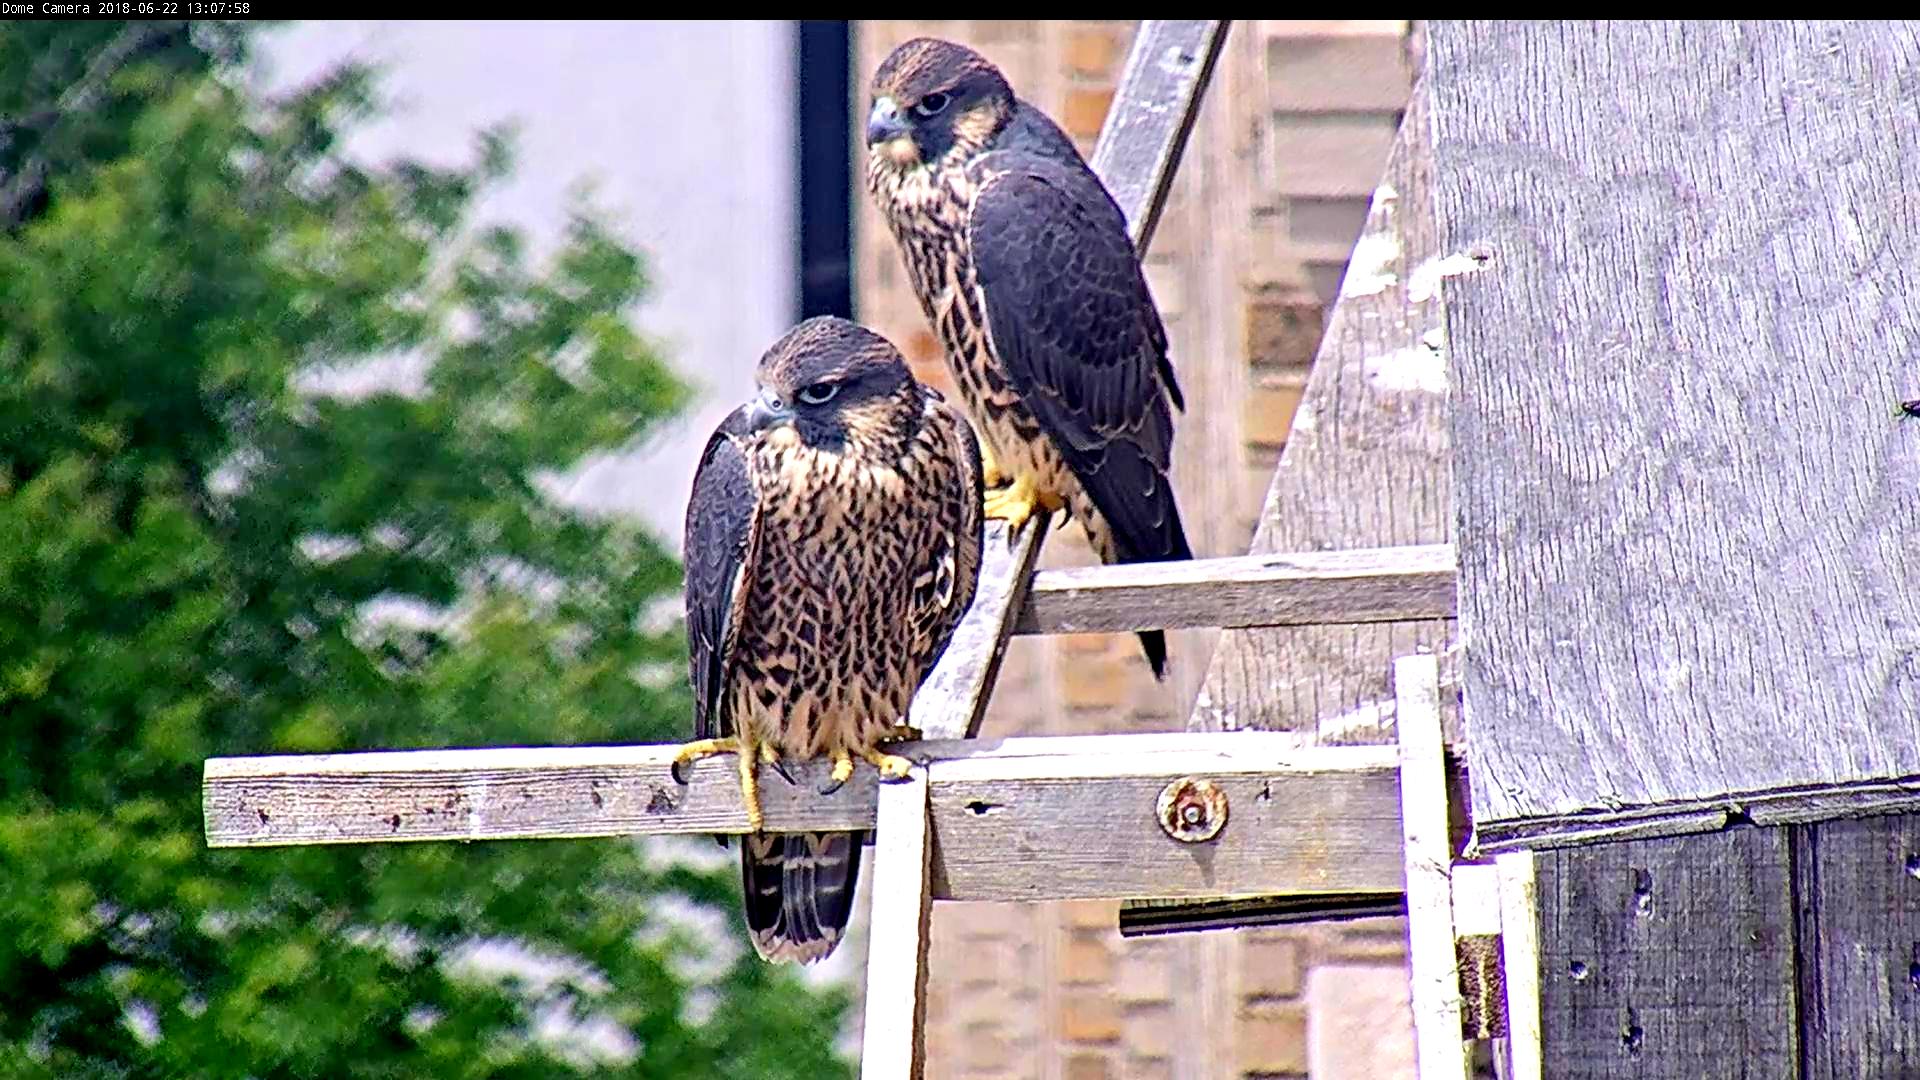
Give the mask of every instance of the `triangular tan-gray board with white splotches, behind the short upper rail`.
M 1453 540 L 1436 298 L 1444 267 L 1436 261 L 1427 131 L 1425 94 L 1415 88 L 1294 413 L 1252 553 Z M 1394 659 L 1444 653 L 1450 626 L 1427 619 L 1227 630 L 1192 726 L 1390 742 Z M 1440 675 L 1442 715 L 1452 717 L 1450 655 L 1442 655 Z

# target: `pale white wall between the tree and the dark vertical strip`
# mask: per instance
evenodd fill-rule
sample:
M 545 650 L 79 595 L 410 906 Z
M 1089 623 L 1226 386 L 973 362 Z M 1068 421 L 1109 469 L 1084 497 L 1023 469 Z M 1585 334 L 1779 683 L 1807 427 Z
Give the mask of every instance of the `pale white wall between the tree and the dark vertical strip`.
M 557 494 L 641 515 L 680 550 L 693 467 L 753 365 L 793 325 L 797 200 L 793 27 L 785 21 L 311 21 L 265 37 L 269 86 L 359 56 L 386 65 L 394 110 L 349 142 L 363 160 L 465 161 L 472 135 L 516 121 L 513 177 L 478 219 L 553 250 L 572 186 L 595 181 L 653 292 L 637 329 L 699 394 L 647 446 L 589 459 Z

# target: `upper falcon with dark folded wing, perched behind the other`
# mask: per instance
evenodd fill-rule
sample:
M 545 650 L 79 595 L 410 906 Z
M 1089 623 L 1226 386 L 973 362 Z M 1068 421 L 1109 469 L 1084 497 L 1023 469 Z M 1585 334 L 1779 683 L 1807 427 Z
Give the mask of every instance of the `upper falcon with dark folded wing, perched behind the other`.
M 987 515 L 1066 505 L 1104 563 L 1190 559 L 1167 480 L 1167 334 L 1127 219 L 977 52 L 916 38 L 874 73 L 868 190 L 979 429 Z M 1165 676 L 1158 630 L 1140 646 Z

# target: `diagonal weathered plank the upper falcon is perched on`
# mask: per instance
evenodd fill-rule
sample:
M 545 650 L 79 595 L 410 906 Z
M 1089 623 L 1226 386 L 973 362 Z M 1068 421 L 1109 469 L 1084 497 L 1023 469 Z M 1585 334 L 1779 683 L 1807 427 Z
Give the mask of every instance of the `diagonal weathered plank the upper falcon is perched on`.
M 1225 38 L 1227 23 L 1221 19 L 1146 19 L 1135 31 L 1089 165 L 1127 215 L 1137 252 L 1144 254 L 1154 236 L 1167 184 Z M 979 732 L 1014 613 L 1025 600 L 1052 521 L 1054 515 L 1039 517 L 1012 538 L 1004 523 L 987 523 L 979 592 L 941 663 L 914 698 L 912 717 L 927 738 Z

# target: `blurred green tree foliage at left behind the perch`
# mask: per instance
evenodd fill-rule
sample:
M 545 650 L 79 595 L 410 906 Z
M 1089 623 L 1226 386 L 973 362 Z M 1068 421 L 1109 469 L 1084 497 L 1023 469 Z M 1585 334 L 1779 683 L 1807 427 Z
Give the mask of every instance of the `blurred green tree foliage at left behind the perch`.
M 140 33 L 0 35 L 0 1076 L 845 1076 L 724 861 L 205 847 L 209 755 L 682 736 L 678 565 L 536 477 L 684 388 L 591 213 L 541 269 L 467 229 L 497 138 L 355 165 L 367 71 Z M 424 375 L 303 390 L 365 357 Z

